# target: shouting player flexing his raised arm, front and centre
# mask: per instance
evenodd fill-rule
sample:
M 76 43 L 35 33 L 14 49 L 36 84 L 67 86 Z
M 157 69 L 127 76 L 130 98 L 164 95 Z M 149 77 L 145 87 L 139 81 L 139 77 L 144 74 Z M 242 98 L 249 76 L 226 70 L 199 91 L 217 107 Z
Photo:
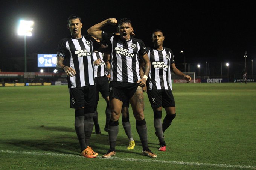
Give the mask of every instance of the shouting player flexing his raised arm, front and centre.
M 131 21 L 122 18 L 118 22 L 120 35 L 101 31 L 107 24 L 116 25 L 116 18 L 109 18 L 92 27 L 87 32 L 107 42 L 111 48 L 111 81 L 110 81 L 110 108 L 111 118 L 108 125 L 110 149 L 103 158 L 110 158 L 116 154 L 116 138 L 118 134 L 118 120 L 121 115 L 123 102 L 130 101 L 133 114 L 136 119 L 136 129 L 142 143 L 142 154 L 151 158 L 157 157 L 148 148 L 146 121 L 144 119 L 144 96 L 142 87 L 146 86 L 146 80 L 150 69 L 150 63 L 146 54 L 146 47 L 142 40 L 131 37 L 133 30 Z M 139 56 L 145 60 L 143 78 L 139 75 Z

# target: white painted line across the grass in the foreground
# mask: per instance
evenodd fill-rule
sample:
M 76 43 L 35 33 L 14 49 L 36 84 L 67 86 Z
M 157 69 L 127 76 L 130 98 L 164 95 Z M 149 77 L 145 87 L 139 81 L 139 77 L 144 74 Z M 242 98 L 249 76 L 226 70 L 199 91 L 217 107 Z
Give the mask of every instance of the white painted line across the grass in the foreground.
M 0 150 L 0 153 L 14 153 L 14 154 L 26 154 L 26 155 L 46 155 L 46 156 L 64 156 L 64 157 L 74 157 L 74 158 L 81 158 L 79 155 L 72 155 L 72 154 L 61 154 L 61 153 L 46 153 L 46 152 L 18 152 L 18 151 L 11 151 L 11 150 Z M 100 156 L 96 157 L 98 159 L 105 159 Z M 161 163 L 161 164 L 180 164 L 180 165 L 193 165 L 193 166 L 210 166 L 210 167 L 226 167 L 226 168 L 240 168 L 240 169 L 256 169 L 256 166 L 245 166 L 245 165 L 229 165 L 229 164 L 208 164 L 208 163 L 197 163 L 197 162 L 181 162 L 181 161 L 164 161 L 164 160 L 157 160 L 148 158 L 148 159 L 134 159 L 134 158 L 118 158 L 112 157 L 109 160 L 117 160 L 117 161 L 137 161 L 137 162 L 154 162 L 154 163 Z

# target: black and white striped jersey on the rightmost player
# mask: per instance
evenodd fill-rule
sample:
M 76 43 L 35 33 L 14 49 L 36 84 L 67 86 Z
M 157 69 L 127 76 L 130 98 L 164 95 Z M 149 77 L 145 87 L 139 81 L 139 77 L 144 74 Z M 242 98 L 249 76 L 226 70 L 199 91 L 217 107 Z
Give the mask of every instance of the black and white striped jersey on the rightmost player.
M 147 81 L 148 89 L 172 90 L 171 64 L 174 63 L 172 50 L 163 47 L 163 50 L 158 51 L 147 47 L 146 51 L 151 64 Z

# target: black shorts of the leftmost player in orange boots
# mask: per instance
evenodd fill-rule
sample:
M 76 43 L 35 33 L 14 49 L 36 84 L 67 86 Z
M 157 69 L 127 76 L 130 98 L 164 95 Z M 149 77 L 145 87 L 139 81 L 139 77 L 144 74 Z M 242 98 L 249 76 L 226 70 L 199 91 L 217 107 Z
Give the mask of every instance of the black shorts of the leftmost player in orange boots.
M 96 85 L 69 88 L 70 108 L 94 108 L 96 105 Z M 94 110 L 94 109 L 93 109 Z

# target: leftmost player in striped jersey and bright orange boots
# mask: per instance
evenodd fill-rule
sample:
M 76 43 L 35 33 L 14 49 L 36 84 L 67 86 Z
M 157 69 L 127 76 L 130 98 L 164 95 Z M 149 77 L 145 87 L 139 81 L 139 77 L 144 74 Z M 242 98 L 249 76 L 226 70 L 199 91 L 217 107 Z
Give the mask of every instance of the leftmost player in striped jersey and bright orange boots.
M 96 85 L 93 70 L 93 50 L 103 46 L 90 36 L 81 34 L 82 22 L 70 15 L 67 28 L 71 35 L 61 39 L 57 48 L 57 67 L 67 75 L 70 108 L 75 109 L 75 131 L 81 147 L 81 156 L 95 158 L 98 153 L 90 147 L 93 131 Z

